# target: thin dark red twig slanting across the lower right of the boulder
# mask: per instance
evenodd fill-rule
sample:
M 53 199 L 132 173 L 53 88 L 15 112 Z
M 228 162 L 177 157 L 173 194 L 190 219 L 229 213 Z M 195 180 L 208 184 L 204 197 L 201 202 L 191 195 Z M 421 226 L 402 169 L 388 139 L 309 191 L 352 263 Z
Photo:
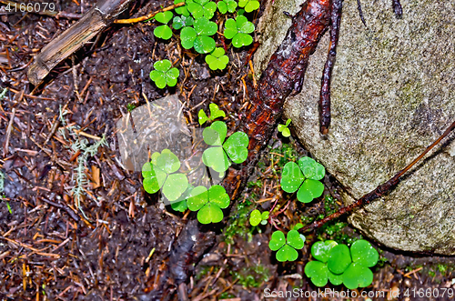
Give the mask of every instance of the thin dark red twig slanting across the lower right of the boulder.
M 438 139 L 436 139 L 435 142 L 433 142 L 430 146 L 428 146 L 423 151 L 423 153 L 420 154 L 420 156 L 415 158 L 408 166 L 406 166 L 403 169 L 401 169 L 395 176 L 392 176 L 389 179 L 389 181 L 379 185 L 373 191 L 369 192 L 365 196 L 360 197 L 356 202 L 350 204 L 349 206 L 346 206 L 346 207 L 343 207 L 343 208 L 339 209 L 339 211 L 335 212 L 334 214 L 332 214 L 330 216 L 327 216 L 327 217 L 325 217 L 325 218 L 323 218 L 323 219 L 321 219 L 319 221 L 316 221 L 316 222 L 314 222 L 314 223 L 312 223 L 310 225 L 302 227 L 300 229 L 300 231 L 301 232 L 305 232 L 305 231 L 308 231 L 308 230 L 317 229 L 320 226 L 326 224 L 327 222 L 329 222 L 329 221 L 331 221 L 331 220 L 333 220 L 335 218 L 338 218 L 339 216 L 342 216 L 344 214 L 347 214 L 347 213 L 351 212 L 352 210 L 354 210 L 355 208 L 358 208 L 359 206 L 367 205 L 371 201 L 373 201 L 373 200 L 375 200 L 375 199 L 377 199 L 377 198 L 379 198 L 381 196 L 384 196 L 386 193 L 391 191 L 395 186 L 397 186 L 399 184 L 399 177 L 400 176 L 403 176 L 407 171 L 409 171 L 410 168 L 412 168 L 412 166 L 414 166 L 417 162 L 419 162 L 423 156 L 427 155 L 434 146 L 438 145 L 442 139 L 444 139 L 447 135 L 449 135 L 450 132 L 454 128 L 455 128 L 455 122 L 453 122 L 446 129 L 446 131 L 442 135 L 440 135 L 440 137 Z

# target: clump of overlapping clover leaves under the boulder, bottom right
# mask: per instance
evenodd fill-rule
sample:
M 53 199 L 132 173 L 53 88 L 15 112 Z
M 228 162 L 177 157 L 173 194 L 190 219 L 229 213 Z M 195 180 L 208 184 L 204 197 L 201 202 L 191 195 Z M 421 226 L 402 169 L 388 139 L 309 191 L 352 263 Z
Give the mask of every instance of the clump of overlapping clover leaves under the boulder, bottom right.
M 376 266 L 378 251 L 368 241 L 360 239 L 349 247 L 338 245 L 333 240 L 317 242 L 311 246 L 311 255 L 316 259 L 305 266 L 305 275 L 315 286 L 344 284 L 349 289 L 369 286 L 373 273 L 369 267 Z

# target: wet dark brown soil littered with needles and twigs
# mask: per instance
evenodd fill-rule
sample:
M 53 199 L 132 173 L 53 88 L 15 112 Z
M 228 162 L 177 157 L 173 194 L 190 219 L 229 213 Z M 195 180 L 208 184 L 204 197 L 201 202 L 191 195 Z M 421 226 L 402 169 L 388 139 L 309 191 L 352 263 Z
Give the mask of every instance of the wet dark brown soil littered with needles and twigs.
M 145 15 L 170 4 L 138 3 L 126 15 Z M 310 245 L 297 262 L 281 264 L 268 248 L 273 226 L 248 225 L 248 213 L 255 207 L 268 209 L 278 200 L 284 207 L 292 198 L 277 188 L 277 171 L 283 166 L 283 145 L 293 149 L 294 156 L 307 154 L 297 142 L 275 133 L 240 205 L 217 226 L 197 226 L 194 214 L 165 207 L 157 196 L 145 193 L 140 172 L 122 165 L 116 122 L 129 108 L 147 101 L 177 94 L 190 127 L 197 126 L 197 111 L 214 102 L 227 112 L 229 128 L 235 128 L 252 93 L 248 48 L 229 50 L 227 70 L 214 73 L 200 55 L 182 49 L 177 38 L 169 43 L 158 40 L 153 23 L 113 25 L 35 87 L 26 77 L 32 56 L 75 21 L 7 14 L 5 5 L 1 7 L 0 88 L 8 88 L 0 102 L 0 168 L 5 175 L 0 202 L 1 300 L 261 300 L 266 288 L 317 290 L 302 276 Z M 58 1 L 56 7 L 80 14 L 91 4 Z M 180 76 L 176 87 L 158 89 L 149 72 L 164 58 L 179 67 Z M 60 121 L 61 112 L 66 112 L 66 125 Z M 74 134 L 75 128 L 86 135 Z M 72 193 L 81 152 L 71 146 L 83 138 L 88 145 L 96 144 L 102 135 L 106 145 L 87 156 L 84 165 L 84 216 Z M 325 186 L 325 196 L 334 199 L 342 189 L 331 176 Z M 288 228 L 326 214 L 322 198 L 319 201 L 310 206 L 291 202 L 278 226 Z M 340 205 L 332 203 L 329 209 Z M 330 237 L 349 243 L 361 236 L 343 222 L 308 236 L 308 241 Z M 194 225 L 185 227 L 187 223 Z M 188 240 L 193 236 L 197 239 Z M 418 292 L 453 289 L 452 257 L 377 247 L 381 264 L 367 291 L 385 293 L 371 299 L 449 299 L 447 294 L 433 298 Z M 407 288 L 409 296 L 403 296 Z M 392 298 L 392 291 L 399 291 L 399 297 Z

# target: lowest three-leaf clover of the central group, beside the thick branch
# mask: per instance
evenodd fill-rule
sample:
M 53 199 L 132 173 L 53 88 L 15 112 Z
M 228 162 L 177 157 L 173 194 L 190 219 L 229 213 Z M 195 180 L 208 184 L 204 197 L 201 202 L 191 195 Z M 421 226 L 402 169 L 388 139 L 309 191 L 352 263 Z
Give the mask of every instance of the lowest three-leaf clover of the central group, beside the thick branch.
M 214 185 L 210 188 L 197 186 L 187 199 L 191 211 L 197 211 L 197 220 L 201 224 L 219 223 L 223 219 L 221 209 L 229 206 L 229 196 L 223 186 Z

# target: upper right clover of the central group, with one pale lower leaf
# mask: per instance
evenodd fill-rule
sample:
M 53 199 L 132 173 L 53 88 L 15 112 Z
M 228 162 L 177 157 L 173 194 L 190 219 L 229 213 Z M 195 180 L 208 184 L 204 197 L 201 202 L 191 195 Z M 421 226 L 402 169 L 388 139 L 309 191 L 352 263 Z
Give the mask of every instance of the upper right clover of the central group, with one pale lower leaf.
M 206 127 L 202 136 L 207 145 L 214 147 L 207 148 L 202 154 L 202 162 L 218 173 L 224 173 L 231 165 L 229 158 L 234 163 L 242 163 L 248 156 L 248 135 L 243 132 L 236 132 L 230 135 L 225 142 L 227 125 L 222 121 L 215 121 Z

